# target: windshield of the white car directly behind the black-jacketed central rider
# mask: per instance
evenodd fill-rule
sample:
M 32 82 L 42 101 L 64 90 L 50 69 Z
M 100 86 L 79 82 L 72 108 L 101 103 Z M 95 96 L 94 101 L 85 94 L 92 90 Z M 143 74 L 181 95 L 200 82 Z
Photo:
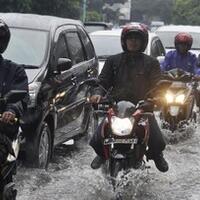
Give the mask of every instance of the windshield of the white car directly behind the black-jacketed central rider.
M 99 58 L 106 58 L 122 52 L 119 36 L 91 35 L 91 40 Z

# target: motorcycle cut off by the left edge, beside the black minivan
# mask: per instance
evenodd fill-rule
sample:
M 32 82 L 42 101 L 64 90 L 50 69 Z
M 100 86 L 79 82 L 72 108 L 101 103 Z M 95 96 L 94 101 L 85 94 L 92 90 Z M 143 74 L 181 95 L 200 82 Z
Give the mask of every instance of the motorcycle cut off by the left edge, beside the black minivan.
M 0 108 L 3 110 L 7 103 L 15 103 L 23 99 L 26 94 L 27 92 L 23 90 L 11 90 L 4 97 L 0 98 Z M 13 125 L 16 123 L 20 124 L 22 121 L 15 118 Z M 5 123 L 0 121 L 0 128 L 5 126 Z M 12 141 L 3 133 L 3 131 L 0 133 L 0 148 L 1 152 L 3 151 L 3 153 L 0 154 L 1 161 L 3 160 L 0 165 L 0 200 L 16 199 L 17 190 L 15 189 L 15 183 L 13 182 L 13 175 L 16 174 L 16 160 L 19 154 L 21 132 L 21 128 L 19 127 L 18 133 L 12 138 Z

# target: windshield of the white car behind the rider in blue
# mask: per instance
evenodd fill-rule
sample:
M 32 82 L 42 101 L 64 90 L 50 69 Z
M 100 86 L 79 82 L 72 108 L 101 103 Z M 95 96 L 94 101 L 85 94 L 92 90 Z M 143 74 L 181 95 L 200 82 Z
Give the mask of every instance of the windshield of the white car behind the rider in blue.
M 178 32 L 157 32 L 157 35 L 160 37 L 164 47 L 167 49 L 175 48 L 174 47 L 174 37 Z M 200 49 L 200 33 L 191 33 L 193 37 L 192 49 Z

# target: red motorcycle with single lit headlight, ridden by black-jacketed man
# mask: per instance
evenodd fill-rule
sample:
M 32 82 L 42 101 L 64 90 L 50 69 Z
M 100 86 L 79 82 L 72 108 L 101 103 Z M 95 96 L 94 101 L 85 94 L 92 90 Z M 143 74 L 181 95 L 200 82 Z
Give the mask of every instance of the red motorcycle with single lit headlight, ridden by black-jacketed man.
M 92 86 L 98 84 L 97 80 L 93 82 L 90 83 Z M 169 85 L 171 82 L 159 83 L 156 90 L 166 84 Z M 148 94 L 152 94 L 153 91 L 155 88 Z M 144 155 L 149 139 L 148 118 L 152 117 L 153 113 L 144 110 L 148 110 L 155 102 L 153 98 L 140 101 L 137 105 L 123 100 L 116 102 L 111 93 L 106 91 L 105 97 L 96 105 L 93 112 L 95 116 L 104 118 L 101 126 L 103 152 L 106 159 L 104 167 L 111 177 L 115 190 L 116 177 L 120 171 L 145 168 Z

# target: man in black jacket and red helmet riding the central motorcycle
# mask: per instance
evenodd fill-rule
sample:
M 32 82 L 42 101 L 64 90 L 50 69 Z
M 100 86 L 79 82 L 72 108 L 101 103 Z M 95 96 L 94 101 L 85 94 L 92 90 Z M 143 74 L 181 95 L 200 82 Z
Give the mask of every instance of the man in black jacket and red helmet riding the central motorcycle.
M 99 75 L 100 84 L 109 89 L 113 87 L 112 96 L 117 100 L 131 101 L 137 104 L 143 100 L 147 92 L 155 87 L 160 79 L 159 62 L 144 54 L 148 43 L 148 31 L 142 24 L 126 25 L 121 33 L 121 45 L 123 52 L 110 56 Z M 91 102 L 98 103 L 104 95 L 101 87 L 94 90 Z M 148 159 L 153 159 L 156 167 L 166 172 L 168 164 L 163 157 L 165 141 L 158 127 L 155 117 L 150 121 L 150 138 L 148 143 Z M 97 156 L 91 163 L 93 169 L 97 169 L 104 162 L 103 144 L 101 137 L 101 125 L 91 138 L 90 145 Z

